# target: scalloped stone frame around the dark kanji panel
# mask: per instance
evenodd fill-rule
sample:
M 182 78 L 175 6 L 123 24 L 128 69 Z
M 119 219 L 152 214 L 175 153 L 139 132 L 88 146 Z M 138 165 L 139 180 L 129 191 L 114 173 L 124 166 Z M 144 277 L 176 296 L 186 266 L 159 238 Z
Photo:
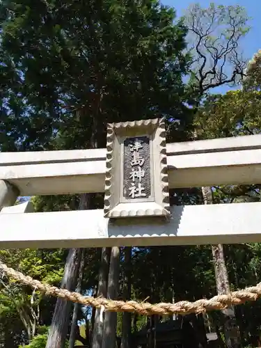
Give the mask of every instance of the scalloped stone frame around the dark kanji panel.
M 168 168 L 163 119 L 111 123 L 107 126 L 104 216 L 168 216 Z M 123 141 L 135 136 L 150 139 L 150 182 L 152 198 L 131 203 L 122 196 Z

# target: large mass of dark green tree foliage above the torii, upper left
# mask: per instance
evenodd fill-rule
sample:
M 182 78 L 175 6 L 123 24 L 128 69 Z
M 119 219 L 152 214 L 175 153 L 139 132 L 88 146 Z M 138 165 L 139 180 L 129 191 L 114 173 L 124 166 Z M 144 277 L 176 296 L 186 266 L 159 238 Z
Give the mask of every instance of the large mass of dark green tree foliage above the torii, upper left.
M 173 23 L 173 9 L 116 0 L 37 7 L 33 0 L 6 0 L 1 9 L 1 49 L 15 74 L 14 84 L 3 86 L 10 109 L 3 127 L 9 121 L 12 127 L 5 149 L 86 148 L 93 141 L 103 147 L 106 122 L 158 115 L 180 120 L 170 125 L 172 134 L 187 132 L 187 29 Z M 9 65 L 0 76 L 11 74 Z

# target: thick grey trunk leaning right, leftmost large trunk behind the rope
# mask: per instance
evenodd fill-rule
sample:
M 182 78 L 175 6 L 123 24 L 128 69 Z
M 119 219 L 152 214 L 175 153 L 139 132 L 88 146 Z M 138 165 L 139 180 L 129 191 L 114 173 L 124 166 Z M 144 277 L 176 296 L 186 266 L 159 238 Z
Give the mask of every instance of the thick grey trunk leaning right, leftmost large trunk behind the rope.
M 79 209 L 88 208 L 90 195 L 81 194 Z M 74 291 L 78 278 L 79 264 L 81 262 L 81 248 L 72 248 L 68 253 L 63 273 L 61 288 Z M 49 331 L 46 348 L 64 348 L 68 326 L 70 323 L 70 311 L 72 302 L 58 299 L 54 310 L 52 325 Z

